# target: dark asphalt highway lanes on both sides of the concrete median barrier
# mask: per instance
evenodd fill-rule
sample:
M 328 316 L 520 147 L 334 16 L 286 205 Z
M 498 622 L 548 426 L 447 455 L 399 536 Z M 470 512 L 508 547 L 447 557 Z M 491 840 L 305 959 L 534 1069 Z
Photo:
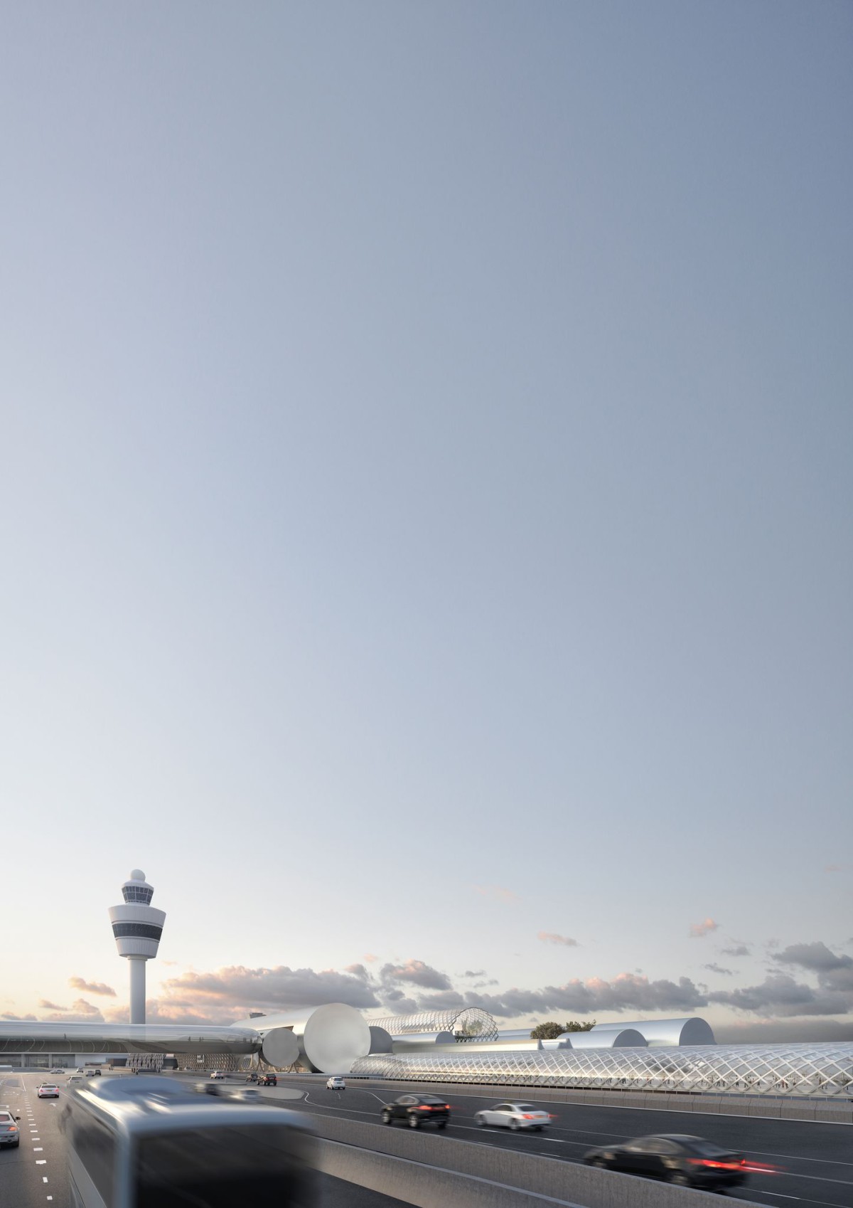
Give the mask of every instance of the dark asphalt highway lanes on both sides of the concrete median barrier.
M 106 1075 L 109 1076 L 109 1075 Z M 197 1075 L 171 1075 L 188 1082 Z M 65 1169 L 66 1140 L 58 1127 L 60 1099 L 39 1099 L 41 1073 L 0 1075 L 0 1103 L 21 1115 L 22 1140 L 18 1149 L 0 1150 L 0 1203 L 10 1208 L 71 1208 Z M 57 1075 L 64 1096 L 64 1076 Z M 379 1123 L 382 1103 L 405 1093 L 405 1087 L 384 1086 L 380 1081 L 357 1080 L 345 1091 L 327 1091 L 325 1076 L 282 1075 L 279 1087 L 263 1087 L 270 1103 L 315 1115 L 343 1115 L 351 1120 Z M 228 1086 L 243 1086 L 240 1075 Z M 413 1093 L 428 1093 L 428 1084 L 410 1084 Z M 510 1133 L 479 1128 L 474 1114 L 501 1100 L 483 1094 L 478 1087 L 460 1086 L 449 1102 L 451 1123 L 440 1134 L 483 1145 L 499 1145 L 524 1154 L 539 1154 L 557 1161 L 577 1162 L 586 1149 L 608 1142 L 623 1142 L 648 1133 L 699 1133 L 721 1145 L 741 1149 L 773 1173 L 753 1172 L 743 1189 L 730 1192 L 753 1202 L 785 1208 L 799 1202 L 802 1208 L 853 1208 L 853 1128 L 756 1116 L 697 1116 L 693 1113 L 654 1111 L 636 1108 L 594 1107 L 549 1102 L 547 1091 L 515 1096 L 539 1104 L 557 1119 L 543 1133 Z M 393 1126 L 399 1127 L 399 1126 Z M 376 1192 L 321 1177 L 322 1208 L 395 1208 L 399 1201 Z

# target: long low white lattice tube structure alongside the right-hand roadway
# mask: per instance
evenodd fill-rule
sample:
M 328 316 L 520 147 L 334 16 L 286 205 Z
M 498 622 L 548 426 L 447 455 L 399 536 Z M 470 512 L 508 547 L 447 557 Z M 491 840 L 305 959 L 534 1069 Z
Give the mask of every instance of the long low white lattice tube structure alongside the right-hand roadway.
M 375 1053 L 352 1078 L 853 1098 L 853 1044 Z

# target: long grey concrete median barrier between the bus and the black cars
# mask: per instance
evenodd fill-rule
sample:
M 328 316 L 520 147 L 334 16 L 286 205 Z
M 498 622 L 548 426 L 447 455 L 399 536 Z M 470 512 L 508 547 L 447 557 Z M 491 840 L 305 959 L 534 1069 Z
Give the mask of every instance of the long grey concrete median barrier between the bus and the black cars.
M 518 1204 L 521 1208 L 525 1200 L 509 1198 L 510 1194 L 583 1208 L 702 1208 L 701 1200 L 708 1203 L 708 1208 L 711 1204 L 719 1208 L 719 1197 L 707 1191 L 598 1171 L 537 1154 L 519 1154 L 513 1149 L 341 1117 L 317 1115 L 312 1116 L 312 1121 L 320 1138 L 350 1150 L 341 1154 L 323 1148 L 328 1161 L 334 1165 L 334 1169 L 328 1169 L 329 1174 L 411 1204 L 422 1204 L 423 1208 L 446 1208 L 448 1204 L 454 1204 L 454 1208 L 471 1204 L 474 1208 L 489 1203 Z M 378 1155 L 404 1162 L 405 1169 L 372 1161 Z M 414 1167 L 426 1168 L 428 1173 L 415 1172 Z M 347 1174 L 347 1171 L 351 1173 Z M 452 1191 L 450 1174 L 463 1180 L 454 1184 Z M 376 1181 L 362 1183 L 366 1175 Z M 382 1181 L 385 1179 L 387 1184 Z M 407 1183 L 407 1179 L 410 1181 Z M 484 1190 L 485 1184 L 489 1187 Z M 391 1186 L 396 1190 L 388 1190 Z M 440 1195 L 436 1190 L 433 1196 L 433 1187 L 439 1189 Z M 422 1198 L 411 1198 L 411 1195 Z M 486 1198 L 480 1198 L 484 1195 Z M 467 1196 L 472 1198 L 465 1198 Z

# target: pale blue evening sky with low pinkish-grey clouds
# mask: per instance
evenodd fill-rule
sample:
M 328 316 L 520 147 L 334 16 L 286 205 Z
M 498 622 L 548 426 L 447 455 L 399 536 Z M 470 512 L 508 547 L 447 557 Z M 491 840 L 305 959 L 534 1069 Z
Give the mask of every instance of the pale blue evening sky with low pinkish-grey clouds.
M 0 1015 L 853 1039 L 851 5 L 0 46 Z

